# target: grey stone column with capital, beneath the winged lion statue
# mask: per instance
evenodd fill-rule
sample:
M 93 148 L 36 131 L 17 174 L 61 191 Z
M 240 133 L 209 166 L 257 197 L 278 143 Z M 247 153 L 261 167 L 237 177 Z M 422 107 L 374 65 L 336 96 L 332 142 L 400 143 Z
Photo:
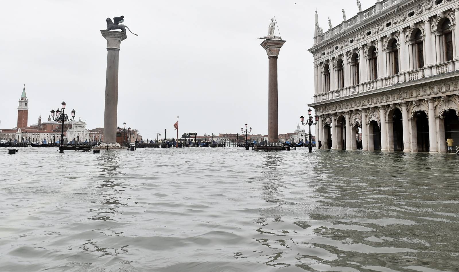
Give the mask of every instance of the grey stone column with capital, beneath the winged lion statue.
M 119 50 L 126 32 L 101 30 L 107 40 L 107 71 L 105 84 L 104 143 L 116 143 L 118 114 Z

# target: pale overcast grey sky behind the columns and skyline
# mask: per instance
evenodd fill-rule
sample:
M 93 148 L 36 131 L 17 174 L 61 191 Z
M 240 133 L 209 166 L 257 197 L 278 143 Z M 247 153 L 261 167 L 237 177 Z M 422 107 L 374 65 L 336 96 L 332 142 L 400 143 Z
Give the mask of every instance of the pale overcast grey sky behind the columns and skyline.
M 374 0 L 362 0 L 362 8 Z M 28 124 L 62 100 L 88 129 L 103 126 L 105 19 L 124 15 L 134 33 L 121 44 L 118 125 L 155 138 L 180 116 L 179 133 L 267 134 L 268 58 L 258 37 L 277 18 L 287 42 L 279 56 L 279 133 L 293 132 L 313 96 L 314 11 L 328 29 L 358 11 L 354 0 L 0 0 L 0 120 L 17 122 L 22 84 Z M 163 135 L 162 135 L 163 136 Z

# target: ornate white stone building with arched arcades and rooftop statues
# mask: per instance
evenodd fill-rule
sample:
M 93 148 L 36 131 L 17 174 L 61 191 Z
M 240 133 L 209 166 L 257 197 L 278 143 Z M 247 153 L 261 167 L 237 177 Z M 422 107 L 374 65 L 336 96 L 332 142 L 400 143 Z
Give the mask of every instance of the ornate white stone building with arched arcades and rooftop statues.
M 317 139 L 350 150 L 444 153 L 447 137 L 459 144 L 457 17 L 454 0 L 382 0 L 324 33 L 316 13 Z

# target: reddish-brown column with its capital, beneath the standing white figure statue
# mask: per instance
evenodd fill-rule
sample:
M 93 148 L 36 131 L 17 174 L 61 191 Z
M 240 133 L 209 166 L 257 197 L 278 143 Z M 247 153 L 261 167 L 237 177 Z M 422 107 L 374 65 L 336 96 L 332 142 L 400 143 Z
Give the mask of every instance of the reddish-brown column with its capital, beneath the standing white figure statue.
M 268 54 L 268 142 L 279 142 L 277 103 L 277 58 L 285 40 L 266 39 L 260 44 Z

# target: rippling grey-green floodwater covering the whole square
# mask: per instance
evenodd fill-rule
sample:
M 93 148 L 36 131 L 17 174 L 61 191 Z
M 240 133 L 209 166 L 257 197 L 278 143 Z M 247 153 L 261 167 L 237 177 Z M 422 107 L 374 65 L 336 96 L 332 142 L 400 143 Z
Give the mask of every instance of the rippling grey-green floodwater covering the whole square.
M 0 148 L 0 271 L 459 271 L 455 154 Z

